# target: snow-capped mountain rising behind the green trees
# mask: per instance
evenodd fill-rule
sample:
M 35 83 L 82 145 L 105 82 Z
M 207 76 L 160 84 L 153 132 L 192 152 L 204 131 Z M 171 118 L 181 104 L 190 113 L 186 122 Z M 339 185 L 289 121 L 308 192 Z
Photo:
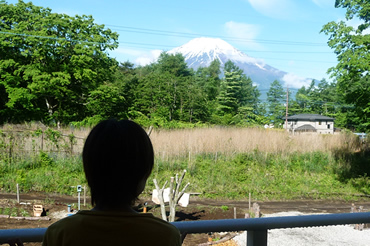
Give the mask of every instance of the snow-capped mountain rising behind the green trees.
M 222 69 L 231 60 L 260 90 L 268 90 L 274 80 L 279 80 L 284 85 L 283 77 L 288 74 L 265 64 L 261 59 L 246 55 L 219 38 L 195 38 L 168 53 L 181 53 L 188 66 L 193 69 L 207 67 L 215 59 L 220 61 Z

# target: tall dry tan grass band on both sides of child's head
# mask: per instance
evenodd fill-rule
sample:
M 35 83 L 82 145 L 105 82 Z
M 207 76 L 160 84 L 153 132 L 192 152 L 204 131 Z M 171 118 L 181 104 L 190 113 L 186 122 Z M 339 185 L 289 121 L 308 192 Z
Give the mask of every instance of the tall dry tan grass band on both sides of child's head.
M 16 142 L 13 143 L 14 151 L 51 150 L 48 149 L 52 146 L 50 140 L 41 135 L 30 134 L 38 129 L 46 131 L 47 127 L 40 124 L 4 125 L 0 128 L 0 131 L 4 133 L 2 136 L 3 143 L 8 143 L 10 141 L 9 133 L 14 133 L 14 138 L 11 140 Z M 67 145 L 67 149 L 69 148 L 68 135 L 73 134 L 76 137 L 73 152 L 79 154 L 82 152 L 84 140 L 91 129 L 55 128 L 53 130 L 61 133 L 60 141 Z M 198 154 L 229 156 L 252 151 L 289 154 L 292 152 L 328 152 L 336 149 L 353 152 L 359 148 L 358 139 L 353 134 L 320 135 L 312 133 L 291 135 L 284 130 L 266 130 L 263 128 L 154 129 L 150 138 L 153 142 L 156 157 L 164 161 Z M 41 141 L 43 141 L 43 147 L 41 147 Z

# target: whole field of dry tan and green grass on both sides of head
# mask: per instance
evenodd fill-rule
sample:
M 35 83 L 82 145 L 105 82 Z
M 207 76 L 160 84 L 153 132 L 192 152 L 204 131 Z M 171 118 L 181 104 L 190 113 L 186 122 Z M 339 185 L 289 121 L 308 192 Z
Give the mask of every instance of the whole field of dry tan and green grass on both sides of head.
M 89 129 L 7 125 L 0 130 L 0 191 L 75 194 L 85 185 L 81 149 Z M 351 133 L 289 135 L 261 128 L 154 129 L 155 167 L 145 190 L 188 171 L 209 198 L 335 198 L 370 195 L 369 145 Z M 119 194 L 117 194 L 119 195 Z

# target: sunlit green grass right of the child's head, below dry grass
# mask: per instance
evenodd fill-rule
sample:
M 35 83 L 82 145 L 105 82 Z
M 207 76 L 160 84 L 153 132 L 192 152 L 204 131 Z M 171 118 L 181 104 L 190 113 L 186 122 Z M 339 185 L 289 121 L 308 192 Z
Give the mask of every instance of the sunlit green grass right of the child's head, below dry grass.
M 178 162 L 158 167 L 152 175 L 164 183 L 176 172 L 187 168 Z M 369 194 L 369 177 L 343 178 L 338 170 L 346 164 L 331 153 L 293 153 L 291 155 L 260 152 L 237 154 L 234 157 L 198 156 L 186 176 L 189 190 L 208 198 L 247 198 L 249 193 L 259 200 L 297 198 L 352 199 Z M 172 164 L 172 166 L 175 166 Z M 366 170 L 363 170 L 366 171 Z M 154 188 L 149 180 L 149 187 Z

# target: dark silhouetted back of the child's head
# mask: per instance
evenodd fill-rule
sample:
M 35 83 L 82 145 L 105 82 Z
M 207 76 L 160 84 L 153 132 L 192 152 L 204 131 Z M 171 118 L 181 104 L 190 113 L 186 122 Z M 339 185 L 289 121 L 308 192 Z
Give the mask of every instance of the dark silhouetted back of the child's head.
M 109 208 L 131 205 L 154 163 L 148 135 L 129 120 L 105 120 L 96 125 L 86 139 L 82 157 L 92 204 Z

